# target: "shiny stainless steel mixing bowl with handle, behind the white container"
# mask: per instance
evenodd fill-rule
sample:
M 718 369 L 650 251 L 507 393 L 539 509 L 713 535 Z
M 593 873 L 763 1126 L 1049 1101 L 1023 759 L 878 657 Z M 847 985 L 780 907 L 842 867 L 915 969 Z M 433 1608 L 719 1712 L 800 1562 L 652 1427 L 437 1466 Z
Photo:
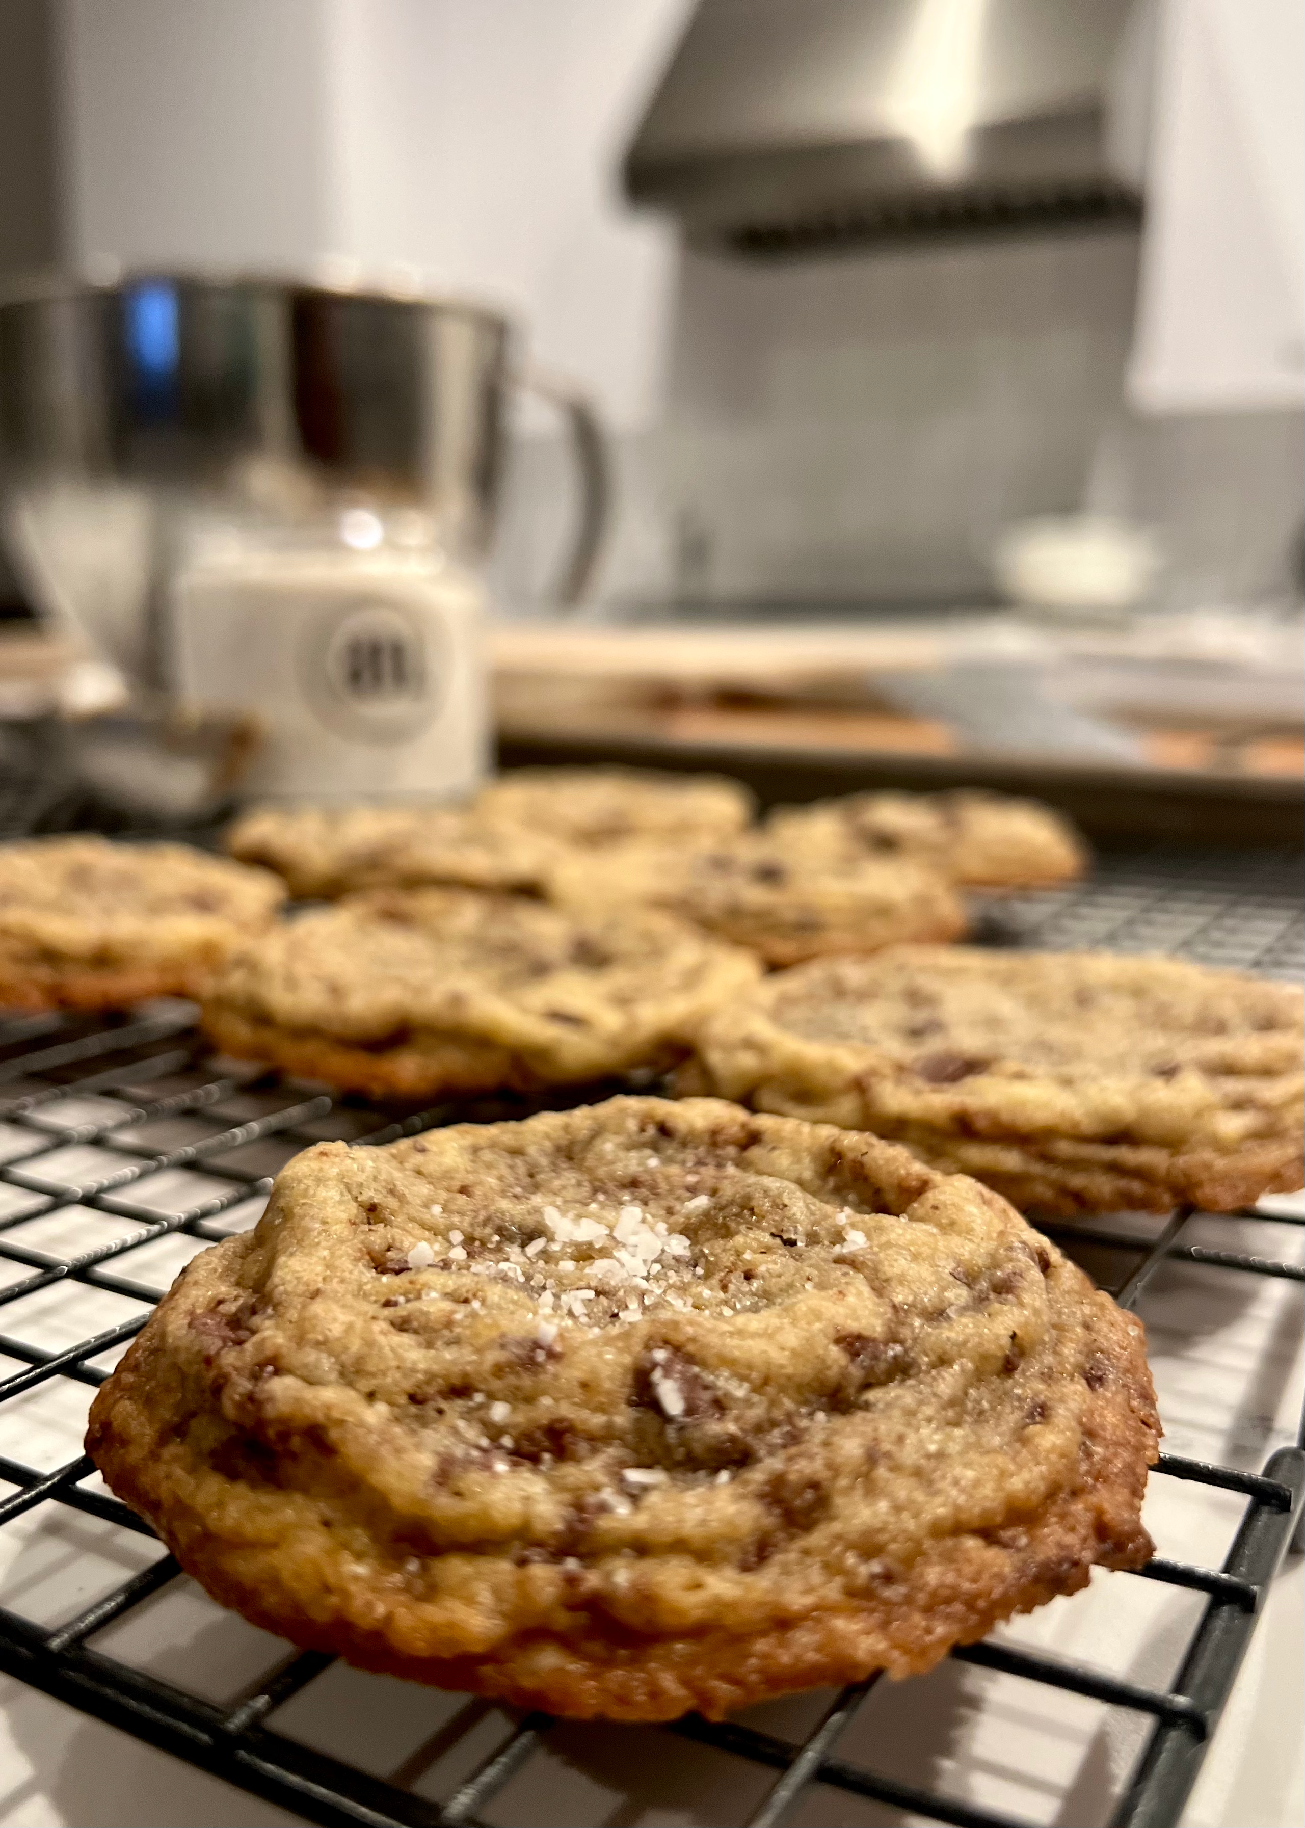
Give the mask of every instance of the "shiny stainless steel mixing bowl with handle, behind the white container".
M 473 563 L 517 378 L 510 324 L 477 305 L 271 278 L 35 282 L 0 298 L 4 537 L 44 607 L 166 689 L 150 625 L 179 514 L 413 506 Z M 583 481 L 556 592 L 570 603 L 601 541 L 603 442 L 583 397 L 539 391 L 567 413 Z

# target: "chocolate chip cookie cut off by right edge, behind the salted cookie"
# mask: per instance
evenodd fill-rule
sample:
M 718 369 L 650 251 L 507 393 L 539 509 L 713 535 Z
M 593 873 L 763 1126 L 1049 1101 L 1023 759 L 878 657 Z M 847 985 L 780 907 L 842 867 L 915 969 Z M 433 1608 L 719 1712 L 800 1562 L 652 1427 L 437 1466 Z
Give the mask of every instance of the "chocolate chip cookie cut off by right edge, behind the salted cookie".
M 1305 1181 L 1303 1042 L 1292 985 L 921 945 L 769 978 L 682 1084 L 896 1137 L 1025 1212 L 1228 1212 Z

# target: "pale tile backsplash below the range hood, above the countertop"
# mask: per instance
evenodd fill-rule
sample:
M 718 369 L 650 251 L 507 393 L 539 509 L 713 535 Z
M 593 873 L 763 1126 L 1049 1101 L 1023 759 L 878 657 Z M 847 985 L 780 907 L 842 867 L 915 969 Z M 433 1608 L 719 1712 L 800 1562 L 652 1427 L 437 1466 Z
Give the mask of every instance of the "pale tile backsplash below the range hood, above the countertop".
M 1283 592 L 1300 413 L 1144 420 L 1122 404 L 1131 230 L 790 265 L 682 254 L 658 424 L 616 448 L 601 594 L 969 596 L 1002 525 L 1151 521 L 1179 605 Z M 501 601 L 543 592 L 572 483 L 517 448 Z

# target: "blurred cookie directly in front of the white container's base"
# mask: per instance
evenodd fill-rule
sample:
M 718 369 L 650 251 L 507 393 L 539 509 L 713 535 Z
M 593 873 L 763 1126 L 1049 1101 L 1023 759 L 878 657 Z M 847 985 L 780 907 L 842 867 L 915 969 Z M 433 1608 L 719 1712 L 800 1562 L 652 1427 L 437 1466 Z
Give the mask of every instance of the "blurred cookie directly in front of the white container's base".
M 559 846 L 461 806 L 254 806 L 227 834 L 243 863 L 285 877 L 291 894 L 334 901 L 358 888 L 430 883 L 537 894 Z

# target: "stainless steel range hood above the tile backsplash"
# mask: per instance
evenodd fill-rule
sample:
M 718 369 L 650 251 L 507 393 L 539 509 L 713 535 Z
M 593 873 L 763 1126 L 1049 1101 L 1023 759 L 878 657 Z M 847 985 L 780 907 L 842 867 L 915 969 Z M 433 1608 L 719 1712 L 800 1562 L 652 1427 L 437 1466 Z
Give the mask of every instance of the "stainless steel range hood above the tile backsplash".
M 625 165 L 696 245 L 1141 216 L 1153 0 L 702 0 Z

